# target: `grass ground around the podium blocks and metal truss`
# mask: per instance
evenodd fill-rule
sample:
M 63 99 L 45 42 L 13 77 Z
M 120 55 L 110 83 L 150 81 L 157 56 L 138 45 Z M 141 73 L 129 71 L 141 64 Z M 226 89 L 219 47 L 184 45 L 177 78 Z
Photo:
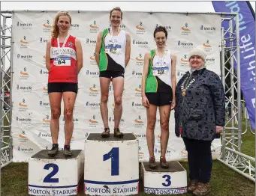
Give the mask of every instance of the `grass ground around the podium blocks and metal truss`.
M 255 136 L 251 132 L 242 135 L 242 153 L 248 156 L 255 156 Z M 182 166 L 188 171 L 187 162 L 182 162 Z M 2 196 L 26 196 L 28 182 L 28 163 L 11 163 L 1 172 L 1 195 Z M 140 177 L 140 194 L 147 195 L 143 191 L 143 183 Z M 210 181 L 211 192 L 214 196 L 233 196 L 233 195 L 255 195 L 255 186 L 247 178 L 231 170 L 218 160 L 213 162 L 212 179 Z M 82 196 L 83 190 L 79 196 Z M 191 194 L 185 194 L 191 195 Z

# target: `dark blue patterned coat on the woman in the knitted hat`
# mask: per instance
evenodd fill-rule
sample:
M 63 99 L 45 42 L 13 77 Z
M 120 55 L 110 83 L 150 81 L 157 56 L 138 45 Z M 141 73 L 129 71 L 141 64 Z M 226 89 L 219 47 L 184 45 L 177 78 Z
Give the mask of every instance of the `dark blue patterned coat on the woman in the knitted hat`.
M 182 83 L 186 88 L 191 81 L 193 83 L 183 97 Z M 224 126 L 225 123 L 225 95 L 218 75 L 205 68 L 192 74 L 187 72 L 176 86 L 174 116 L 177 137 L 182 125 L 182 137 L 204 141 L 219 138 L 220 135 L 215 134 L 215 126 Z

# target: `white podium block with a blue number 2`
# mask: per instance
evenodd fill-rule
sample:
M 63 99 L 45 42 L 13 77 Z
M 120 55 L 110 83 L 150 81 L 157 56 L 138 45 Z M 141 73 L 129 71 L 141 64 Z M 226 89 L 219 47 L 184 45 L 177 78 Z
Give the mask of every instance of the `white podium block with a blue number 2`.
M 83 150 L 71 151 L 70 159 L 65 159 L 63 150 L 55 157 L 41 150 L 29 159 L 29 195 L 77 195 L 84 154 Z

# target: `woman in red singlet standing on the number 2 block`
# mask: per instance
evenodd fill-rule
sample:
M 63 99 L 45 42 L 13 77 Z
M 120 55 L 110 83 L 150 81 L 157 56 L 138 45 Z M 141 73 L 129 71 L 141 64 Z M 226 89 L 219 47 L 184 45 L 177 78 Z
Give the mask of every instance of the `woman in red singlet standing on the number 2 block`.
M 54 19 L 52 37 L 47 42 L 46 66 L 49 70 L 48 94 L 50 99 L 50 131 L 53 147 L 48 156 L 59 151 L 59 117 L 62 97 L 64 101 L 65 145 L 64 155 L 71 156 L 70 142 L 74 129 L 73 110 L 77 97 L 77 76 L 83 67 L 83 51 L 80 40 L 68 33 L 71 16 L 59 11 Z

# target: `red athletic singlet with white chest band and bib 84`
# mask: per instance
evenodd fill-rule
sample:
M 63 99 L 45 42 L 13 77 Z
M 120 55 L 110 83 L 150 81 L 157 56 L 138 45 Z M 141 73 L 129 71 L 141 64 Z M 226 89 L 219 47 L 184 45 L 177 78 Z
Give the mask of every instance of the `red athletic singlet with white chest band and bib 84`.
M 59 49 L 57 38 L 51 40 L 48 82 L 77 83 L 77 52 L 75 40 L 76 37 L 70 35 L 63 48 L 63 43 L 59 44 Z

